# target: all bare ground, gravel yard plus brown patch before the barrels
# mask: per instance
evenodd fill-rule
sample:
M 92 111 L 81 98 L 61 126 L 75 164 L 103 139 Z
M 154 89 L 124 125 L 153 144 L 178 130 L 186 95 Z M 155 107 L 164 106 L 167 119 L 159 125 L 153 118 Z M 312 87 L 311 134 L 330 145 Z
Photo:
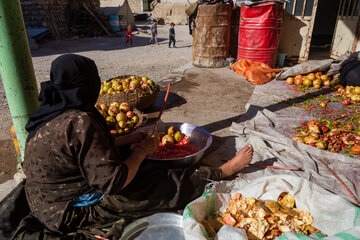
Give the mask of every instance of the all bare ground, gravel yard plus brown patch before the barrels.
M 149 35 L 140 32 L 134 36 L 134 46 L 126 47 L 124 37 L 71 39 L 48 41 L 40 49 L 32 51 L 33 64 L 38 84 L 49 80 L 51 62 L 64 53 L 77 53 L 93 59 L 102 80 L 116 75 L 145 75 L 155 81 L 192 61 L 191 36 L 187 26 L 176 26 L 177 48 L 168 48 L 168 27 L 159 26 L 159 45 L 149 45 Z M 227 68 L 202 69 L 191 67 L 184 72 L 182 81 L 173 85 L 162 121 L 189 122 L 207 129 L 214 141 L 206 155 L 216 150 L 227 137 L 228 127 L 244 112 L 254 86 Z M 155 120 L 165 95 L 165 89 L 154 106 L 146 111 L 149 122 Z M 10 134 L 11 118 L 2 85 L 0 86 L 0 167 L 8 165 L 16 170 Z M 7 141 L 6 141 L 7 140 Z M 12 148 L 11 148 L 12 147 Z M 209 165 L 217 165 L 206 161 Z M 10 163 L 11 164 L 7 164 Z M 14 165 L 12 165 L 15 163 Z M 2 169 L 2 168 L 1 168 Z M 0 183 L 11 179 L 13 171 L 0 172 Z M 6 178 L 7 177 L 7 178 Z M 1 186 L 0 186 L 1 188 Z M 1 199 L 1 198 L 0 198 Z

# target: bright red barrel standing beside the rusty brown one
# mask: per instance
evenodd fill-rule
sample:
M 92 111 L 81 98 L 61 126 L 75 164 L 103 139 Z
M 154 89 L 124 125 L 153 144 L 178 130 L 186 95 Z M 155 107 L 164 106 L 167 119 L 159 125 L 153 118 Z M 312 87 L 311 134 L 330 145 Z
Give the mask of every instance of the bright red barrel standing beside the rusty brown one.
M 283 15 L 282 3 L 242 6 L 237 58 L 275 67 Z

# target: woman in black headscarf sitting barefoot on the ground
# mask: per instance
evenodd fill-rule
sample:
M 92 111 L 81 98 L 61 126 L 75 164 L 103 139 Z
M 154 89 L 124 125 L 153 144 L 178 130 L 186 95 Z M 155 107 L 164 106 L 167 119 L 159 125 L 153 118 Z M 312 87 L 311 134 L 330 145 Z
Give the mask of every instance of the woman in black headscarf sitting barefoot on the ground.
M 24 171 L 31 215 L 52 236 L 119 237 L 128 221 L 183 209 L 201 195 L 208 179 L 229 177 L 251 161 L 253 149 L 246 146 L 220 168 L 167 169 L 143 162 L 156 151 L 157 137 L 110 135 L 94 107 L 101 83 L 91 59 L 60 56 L 50 79 L 41 84 L 40 107 L 26 125 Z M 116 227 L 101 232 L 109 223 Z M 48 234 L 34 231 L 23 221 L 15 239 Z

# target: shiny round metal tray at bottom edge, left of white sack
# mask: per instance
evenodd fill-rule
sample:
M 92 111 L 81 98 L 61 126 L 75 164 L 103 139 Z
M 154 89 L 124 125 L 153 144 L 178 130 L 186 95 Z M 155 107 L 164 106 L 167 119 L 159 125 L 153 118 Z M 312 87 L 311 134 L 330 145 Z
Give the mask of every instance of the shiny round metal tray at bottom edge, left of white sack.
M 182 215 L 156 213 L 128 225 L 120 240 L 184 240 Z

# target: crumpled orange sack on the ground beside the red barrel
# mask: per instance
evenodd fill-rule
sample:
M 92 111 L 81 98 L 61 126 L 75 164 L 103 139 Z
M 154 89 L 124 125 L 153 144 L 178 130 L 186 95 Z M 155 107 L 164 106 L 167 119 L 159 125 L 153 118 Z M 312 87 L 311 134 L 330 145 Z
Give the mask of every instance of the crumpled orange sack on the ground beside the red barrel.
M 230 68 L 237 74 L 245 76 L 246 80 L 255 85 L 270 82 L 276 76 L 276 73 L 281 72 L 281 69 L 273 69 L 265 63 L 246 59 L 239 59 L 231 64 Z

